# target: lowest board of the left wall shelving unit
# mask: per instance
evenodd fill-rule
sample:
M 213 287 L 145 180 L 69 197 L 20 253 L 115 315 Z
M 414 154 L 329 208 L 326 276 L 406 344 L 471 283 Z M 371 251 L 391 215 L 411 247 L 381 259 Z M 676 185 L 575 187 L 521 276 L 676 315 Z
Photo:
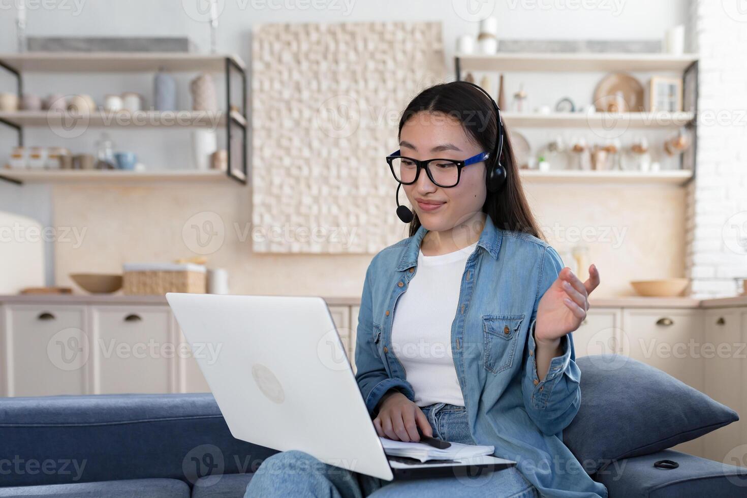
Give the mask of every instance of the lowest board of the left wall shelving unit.
M 219 170 L 0 169 L 0 178 L 19 184 L 154 184 L 167 182 L 205 184 L 209 182 L 225 183 L 226 172 Z

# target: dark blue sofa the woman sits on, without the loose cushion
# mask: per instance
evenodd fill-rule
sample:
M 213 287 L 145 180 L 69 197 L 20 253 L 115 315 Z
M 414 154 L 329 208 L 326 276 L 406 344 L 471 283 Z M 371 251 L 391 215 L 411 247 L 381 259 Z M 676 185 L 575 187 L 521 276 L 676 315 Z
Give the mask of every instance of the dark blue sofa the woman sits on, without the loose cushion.
M 0 399 L 0 497 L 243 497 L 274 453 L 233 438 L 211 394 Z M 610 498 L 747 496 L 741 467 L 669 449 L 619 463 L 595 476 Z

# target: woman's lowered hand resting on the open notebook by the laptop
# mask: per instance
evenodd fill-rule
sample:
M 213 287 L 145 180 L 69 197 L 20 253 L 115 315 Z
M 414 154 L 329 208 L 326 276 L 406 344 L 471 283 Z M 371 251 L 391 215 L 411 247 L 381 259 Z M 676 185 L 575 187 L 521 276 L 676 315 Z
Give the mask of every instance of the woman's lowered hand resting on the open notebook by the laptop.
M 424 435 L 433 437 L 433 429 L 420 407 L 397 390 L 382 396 L 373 426 L 379 436 L 394 441 L 420 441 L 418 426 Z

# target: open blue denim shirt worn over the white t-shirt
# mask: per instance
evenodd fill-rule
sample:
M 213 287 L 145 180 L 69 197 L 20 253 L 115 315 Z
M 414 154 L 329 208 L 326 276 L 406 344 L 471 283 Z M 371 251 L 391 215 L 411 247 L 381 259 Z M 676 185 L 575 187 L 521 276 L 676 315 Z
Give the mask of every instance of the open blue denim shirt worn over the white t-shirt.
M 391 325 L 397 299 L 418 271 L 426 232 L 421 225 L 412 237 L 382 249 L 366 271 L 355 359 L 356 381 L 372 417 L 390 389 L 415 400 L 391 350 Z M 488 215 L 462 275 L 451 352 L 476 443 L 517 461 L 543 497 L 607 497 L 604 485 L 562 443 L 562 430 L 581 400 L 572 334 L 562 338 L 562 355 L 551 360 L 545 378 L 537 376 L 537 306 L 563 267 L 547 243 L 500 229 Z

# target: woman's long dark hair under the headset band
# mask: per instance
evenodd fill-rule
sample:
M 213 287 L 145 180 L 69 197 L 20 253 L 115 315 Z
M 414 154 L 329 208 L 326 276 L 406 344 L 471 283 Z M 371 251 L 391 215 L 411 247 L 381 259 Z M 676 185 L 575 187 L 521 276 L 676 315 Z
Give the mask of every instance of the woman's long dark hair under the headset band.
M 418 93 L 418 96 L 412 99 L 402 112 L 397 140 L 400 139 L 402 127 L 407 120 L 423 111 L 455 117 L 462 123 L 468 137 L 471 137 L 475 143 L 480 144 L 483 150 L 492 152 L 495 147 L 495 140 L 498 138 L 495 108 L 493 108 L 488 97 L 471 84 L 463 81 L 452 81 L 433 85 L 433 87 L 426 88 Z M 505 123 L 503 124 L 505 125 Z M 503 139 L 503 166 L 506 167 L 506 181 L 498 192 L 487 193 L 485 204 L 483 204 L 483 212 L 489 214 L 497 228 L 523 231 L 545 240 L 529 208 L 527 198 L 524 196 L 524 189 L 521 187 L 521 179 L 518 176 L 518 168 L 515 166 L 516 161 L 507 132 L 508 128 L 504 129 L 506 134 Z M 492 158 L 488 161 L 496 160 L 497 158 Z M 490 164 L 486 163 L 486 166 L 490 166 Z M 486 167 L 486 172 L 488 169 Z M 420 225 L 418 214 L 415 214 L 412 222 L 410 222 L 410 236 L 418 231 Z

